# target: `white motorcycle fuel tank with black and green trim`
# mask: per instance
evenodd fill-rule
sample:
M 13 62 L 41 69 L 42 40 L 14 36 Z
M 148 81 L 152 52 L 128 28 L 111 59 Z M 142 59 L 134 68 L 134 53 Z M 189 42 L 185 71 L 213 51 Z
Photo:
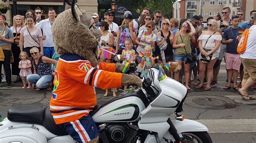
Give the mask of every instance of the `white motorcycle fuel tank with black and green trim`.
M 92 118 L 96 123 L 136 121 L 147 104 L 143 96 L 141 90 L 124 92 L 110 99 Z

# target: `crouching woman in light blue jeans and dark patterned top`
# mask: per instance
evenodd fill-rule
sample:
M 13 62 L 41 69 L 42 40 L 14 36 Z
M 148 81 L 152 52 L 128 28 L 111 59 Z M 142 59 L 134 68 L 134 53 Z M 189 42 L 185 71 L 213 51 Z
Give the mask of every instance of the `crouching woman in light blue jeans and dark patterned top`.
M 51 82 L 53 78 L 51 64 L 56 66 L 57 61 L 40 55 L 37 47 L 32 47 L 29 53 L 33 57 L 32 65 L 34 68 L 34 74 L 28 75 L 26 80 L 30 83 L 36 84 L 37 90 L 41 90 L 42 88 L 51 90 Z

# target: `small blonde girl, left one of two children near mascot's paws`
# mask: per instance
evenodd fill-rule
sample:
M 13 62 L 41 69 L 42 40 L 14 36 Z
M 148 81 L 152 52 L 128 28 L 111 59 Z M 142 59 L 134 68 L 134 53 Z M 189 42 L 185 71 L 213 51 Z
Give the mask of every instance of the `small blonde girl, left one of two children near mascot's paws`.
M 134 49 L 132 49 L 133 44 L 130 38 L 125 40 L 125 47 L 126 49 L 123 49 L 122 55 L 121 55 L 121 58 L 124 59 L 123 63 L 126 63 L 126 62 L 135 63 L 135 60 L 137 59 L 137 55 L 135 54 Z

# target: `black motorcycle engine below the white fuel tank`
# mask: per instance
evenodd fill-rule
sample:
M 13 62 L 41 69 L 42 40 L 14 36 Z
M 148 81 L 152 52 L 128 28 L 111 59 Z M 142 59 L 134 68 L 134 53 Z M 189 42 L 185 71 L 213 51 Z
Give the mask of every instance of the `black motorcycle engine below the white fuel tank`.
M 109 124 L 100 131 L 99 142 L 136 142 L 137 133 L 125 124 Z

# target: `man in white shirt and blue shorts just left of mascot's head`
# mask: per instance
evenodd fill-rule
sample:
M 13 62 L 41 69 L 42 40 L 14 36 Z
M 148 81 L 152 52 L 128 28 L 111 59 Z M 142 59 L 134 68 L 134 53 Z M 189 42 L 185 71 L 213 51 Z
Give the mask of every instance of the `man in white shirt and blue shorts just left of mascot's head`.
M 41 22 L 36 24 L 36 26 L 41 28 L 43 31 L 44 55 L 48 58 L 52 58 L 52 55 L 55 53 L 55 51 L 53 46 L 51 27 L 56 17 L 56 11 L 54 9 L 49 9 L 48 16 L 48 19 L 41 20 Z

